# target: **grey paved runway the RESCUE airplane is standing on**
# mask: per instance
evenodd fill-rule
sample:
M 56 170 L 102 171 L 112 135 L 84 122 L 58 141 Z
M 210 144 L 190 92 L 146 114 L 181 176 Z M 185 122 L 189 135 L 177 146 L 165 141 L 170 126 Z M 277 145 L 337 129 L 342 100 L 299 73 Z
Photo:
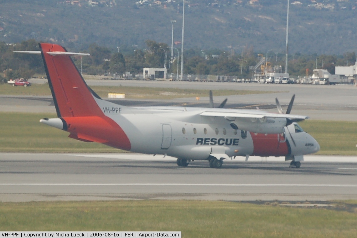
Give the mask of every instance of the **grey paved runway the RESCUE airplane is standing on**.
M 171 157 L 131 153 L 0 153 L 0 201 L 357 198 L 357 157 L 305 158 L 299 169 L 283 158 L 260 157 L 212 169 L 206 161 L 182 168 Z

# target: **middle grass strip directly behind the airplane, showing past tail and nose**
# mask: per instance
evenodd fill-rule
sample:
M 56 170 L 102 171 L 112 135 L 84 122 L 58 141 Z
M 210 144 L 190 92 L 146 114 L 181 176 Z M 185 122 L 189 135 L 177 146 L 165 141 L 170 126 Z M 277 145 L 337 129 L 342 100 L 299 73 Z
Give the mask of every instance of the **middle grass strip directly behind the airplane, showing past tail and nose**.
M 0 152 L 122 152 L 99 143 L 68 138 L 68 132 L 39 122 L 45 117 L 56 115 L 1 112 Z M 320 144 L 318 155 L 357 155 L 357 122 L 306 120 L 299 124 Z

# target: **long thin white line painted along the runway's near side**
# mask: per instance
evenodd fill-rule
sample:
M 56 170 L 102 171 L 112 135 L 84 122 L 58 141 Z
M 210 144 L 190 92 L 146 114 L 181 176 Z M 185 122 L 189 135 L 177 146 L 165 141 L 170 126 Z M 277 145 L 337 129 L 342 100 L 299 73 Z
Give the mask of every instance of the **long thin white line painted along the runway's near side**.
M 234 183 L 0 183 L 0 186 L 233 186 L 233 187 L 357 187 L 357 184 L 234 184 Z

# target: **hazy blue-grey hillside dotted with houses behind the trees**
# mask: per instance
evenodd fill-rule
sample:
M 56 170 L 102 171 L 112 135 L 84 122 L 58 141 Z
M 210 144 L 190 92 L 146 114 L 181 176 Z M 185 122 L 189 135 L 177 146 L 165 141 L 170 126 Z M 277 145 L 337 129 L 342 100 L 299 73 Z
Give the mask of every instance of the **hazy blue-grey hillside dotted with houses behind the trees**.
M 0 41 L 54 41 L 68 48 L 90 44 L 122 52 L 145 40 L 181 41 L 182 1 L 0 0 Z M 291 0 L 291 54 L 337 54 L 357 50 L 357 3 L 352 0 Z M 285 52 L 286 0 L 191 0 L 186 2 L 185 48 Z M 176 46 L 180 47 L 180 45 Z

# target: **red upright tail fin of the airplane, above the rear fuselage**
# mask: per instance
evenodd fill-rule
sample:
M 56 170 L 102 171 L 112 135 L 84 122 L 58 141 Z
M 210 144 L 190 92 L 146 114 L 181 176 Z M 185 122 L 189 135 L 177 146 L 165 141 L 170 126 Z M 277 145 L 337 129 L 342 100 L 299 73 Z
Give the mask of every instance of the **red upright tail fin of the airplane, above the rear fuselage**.
M 58 117 L 104 115 L 70 55 L 59 45 L 40 43 Z M 54 52 L 51 54 L 51 52 Z M 97 96 L 97 95 L 95 95 Z

